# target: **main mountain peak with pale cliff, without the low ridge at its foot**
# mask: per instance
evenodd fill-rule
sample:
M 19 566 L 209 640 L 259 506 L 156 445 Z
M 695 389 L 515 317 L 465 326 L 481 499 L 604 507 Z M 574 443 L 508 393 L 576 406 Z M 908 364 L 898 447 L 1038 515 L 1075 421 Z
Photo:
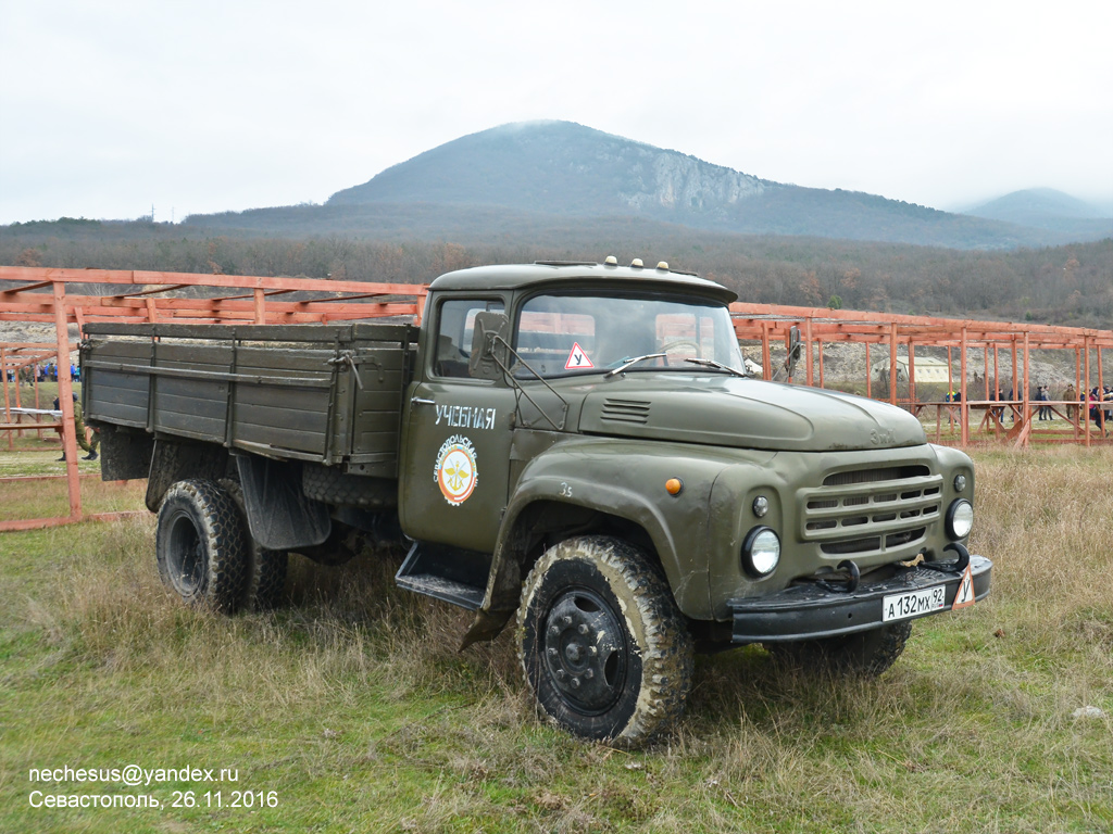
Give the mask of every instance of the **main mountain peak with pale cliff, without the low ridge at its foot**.
M 462 137 L 338 191 L 326 206 L 415 202 L 955 248 L 1028 242 L 1024 230 L 997 222 L 774 182 L 568 121 L 503 125 Z

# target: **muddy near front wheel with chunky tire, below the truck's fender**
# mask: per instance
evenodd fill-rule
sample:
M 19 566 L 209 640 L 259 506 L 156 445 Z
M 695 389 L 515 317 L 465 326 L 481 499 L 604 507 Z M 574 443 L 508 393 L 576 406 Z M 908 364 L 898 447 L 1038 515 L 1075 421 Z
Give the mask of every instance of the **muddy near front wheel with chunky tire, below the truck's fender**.
M 668 584 L 621 539 L 549 548 L 522 588 L 516 633 L 539 712 L 574 735 L 637 746 L 683 713 L 691 635 Z

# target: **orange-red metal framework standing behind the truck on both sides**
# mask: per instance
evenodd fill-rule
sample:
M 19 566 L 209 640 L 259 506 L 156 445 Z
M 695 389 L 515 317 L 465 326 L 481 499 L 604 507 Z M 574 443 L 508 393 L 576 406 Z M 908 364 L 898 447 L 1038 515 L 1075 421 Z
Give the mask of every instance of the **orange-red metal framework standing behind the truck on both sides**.
M 37 428 L 60 429 L 66 454 L 66 478 L 70 507 L 67 516 L 38 519 L 7 519 L 0 515 L 0 532 L 69 524 L 88 518 L 115 517 L 118 514 L 87 515 L 81 510 L 78 483 L 77 440 L 73 428 L 72 385 L 70 379 L 70 327 L 78 335 L 91 321 L 191 324 L 327 324 L 359 319 L 404 316 L 420 324 L 427 287 L 408 284 L 367 284 L 314 278 L 279 278 L 263 276 L 197 275 L 102 269 L 42 269 L 0 266 L 0 321 L 49 322 L 55 326 L 56 340 L 50 344 L 6 342 L 0 346 L 0 367 L 4 388 L 4 424 L 9 448 L 12 435 Z M 1086 405 L 1076 400 L 1057 399 L 1041 404 L 1031 400 L 1031 351 L 1055 349 L 1074 351 L 1075 390 L 1084 394 L 1094 384 L 1104 384 L 1102 351 L 1113 347 L 1113 331 L 1053 327 L 1046 325 L 1009 324 L 900 316 L 855 310 L 830 310 L 808 307 L 784 307 L 754 304 L 731 305 L 735 329 L 740 340 L 760 344 L 766 378 L 775 375 L 774 345 L 787 346 L 790 329 L 800 330 L 804 356 L 802 380 L 807 385 L 825 386 L 824 345 L 858 342 L 865 346 L 866 395 L 873 396 L 870 347 L 883 349 L 888 357 L 889 373 L 885 398 L 900 403 L 913 411 L 934 406 L 936 439 L 944 419 L 959 426 L 958 445 L 971 444 L 972 411 L 981 414 L 982 426 L 999 428 L 1017 445 L 1026 445 L 1035 435 L 1033 415 L 1045 405 L 1055 409 L 1071 427 L 1057 438 L 1090 445 L 1097 434 L 1092 430 Z M 916 348 L 946 348 L 947 390 L 955 391 L 954 403 L 920 403 L 916 398 Z M 898 348 L 906 354 L 908 396 L 898 399 Z M 983 398 L 974 399 L 977 386 L 971 381 L 972 350 L 982 350 Z M 779 350 L 779 348 L 778 348 Z M 992 378 L 999 384 L 1001 351 L 1011 356 L 1016 396 L 1008 400 L 995 398 L 989 390 Z M 957 351 L 958 377 L 954 378 L 954 353 Z M 991 356 L 993 357 L 991 368 Z M 62 411 L 60 425 L 39 427 L 12 419 L 9 371 L 14 376 L 16 408 L 20 406 L 19 369 L 45 361 L 57 361 L 58 396 Z M 1023 383 L 1018 378 L 1023 375 Z M 799 378 L 799 371 L 797 371 Z M 977 379 L 974 369 L 974 379 Z M 39 408 L 36 389 L 36 408 Z M 1014 417 L 1006 431 L 1003 414 Z M 45 409 L 39 409 L 45 410 Z M 1102 435 L 1104 436 L 1104 434 Z M 946 440 L 947 438 L 944 438 Z

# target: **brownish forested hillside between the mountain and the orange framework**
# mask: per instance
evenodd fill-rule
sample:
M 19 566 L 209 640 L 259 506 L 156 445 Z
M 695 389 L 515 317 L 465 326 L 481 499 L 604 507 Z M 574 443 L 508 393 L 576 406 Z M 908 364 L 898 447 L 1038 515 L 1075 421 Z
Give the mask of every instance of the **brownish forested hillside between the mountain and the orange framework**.
M 725 235 L 641 220 L 492 228 L 480 240 L 352 235 L 232 237 L 169 224 L 59 220 L 0 227 L 0 264 L 427 282 L 480 264 L 667 260 L 745 300 L 949 317 L 1113 326 L 1113 239 L 978 252 L 820 238 Z

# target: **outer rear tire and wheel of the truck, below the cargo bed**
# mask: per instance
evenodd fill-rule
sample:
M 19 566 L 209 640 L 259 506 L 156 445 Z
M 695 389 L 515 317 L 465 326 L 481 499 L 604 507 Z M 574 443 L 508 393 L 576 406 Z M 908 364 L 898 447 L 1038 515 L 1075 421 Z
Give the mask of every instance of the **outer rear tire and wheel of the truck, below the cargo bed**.
M 247 545 L 235 500 L 211 480 L 179 480 L 158 510 L 155 537 L 164 584 L 189 605 L 233 613 L 247 580 Z

